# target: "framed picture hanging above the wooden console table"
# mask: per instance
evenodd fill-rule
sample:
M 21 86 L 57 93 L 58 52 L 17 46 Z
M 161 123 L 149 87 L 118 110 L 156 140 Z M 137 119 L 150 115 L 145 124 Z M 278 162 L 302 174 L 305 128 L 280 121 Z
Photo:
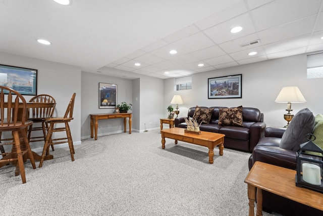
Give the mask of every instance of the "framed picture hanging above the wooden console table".
M 115 109 L 118 85 L 99 82 L 99 109 Z

